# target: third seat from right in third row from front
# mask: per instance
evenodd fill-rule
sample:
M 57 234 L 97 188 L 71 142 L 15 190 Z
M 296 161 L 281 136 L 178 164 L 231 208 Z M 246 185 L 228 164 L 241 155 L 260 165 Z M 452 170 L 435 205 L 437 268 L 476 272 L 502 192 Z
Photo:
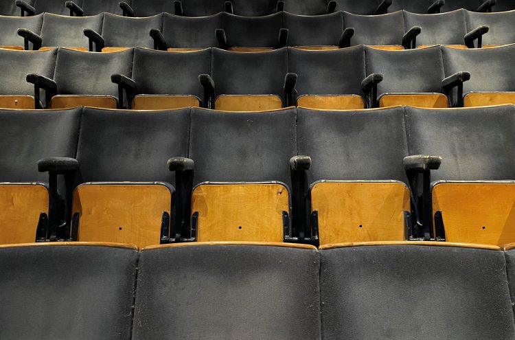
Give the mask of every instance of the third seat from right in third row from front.
M 348 67 L 353 65 L 352 67 Z M 363 46 L 336 51 L 288 49 L 288 71 L 296 73 L 297 106 L 308 109 L 365 109 Z

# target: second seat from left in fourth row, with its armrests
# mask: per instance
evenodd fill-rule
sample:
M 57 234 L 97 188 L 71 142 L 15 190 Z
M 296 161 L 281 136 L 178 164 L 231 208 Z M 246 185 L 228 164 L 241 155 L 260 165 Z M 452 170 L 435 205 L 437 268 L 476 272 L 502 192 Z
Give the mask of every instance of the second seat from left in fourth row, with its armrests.
M 87 51 L 89 47 L 88 38 L 84 36 L 83 31 L 89 29 L 99 32 L 102 28 L 103 18 L 104 14 L 62 16 L 45 13 L 41 33 L 20 28 L 18 34 L 25 40 L 25 47 L 28 43 L 32 43 L 33 49 L 69 47 Z

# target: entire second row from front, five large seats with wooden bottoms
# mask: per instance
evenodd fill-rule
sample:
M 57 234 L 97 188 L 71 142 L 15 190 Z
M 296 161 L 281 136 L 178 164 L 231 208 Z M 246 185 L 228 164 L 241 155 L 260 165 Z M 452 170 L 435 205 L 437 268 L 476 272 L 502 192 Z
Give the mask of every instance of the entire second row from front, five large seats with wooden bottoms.
M 0 120 L 0 244 L 515 240 L 514 106 Z

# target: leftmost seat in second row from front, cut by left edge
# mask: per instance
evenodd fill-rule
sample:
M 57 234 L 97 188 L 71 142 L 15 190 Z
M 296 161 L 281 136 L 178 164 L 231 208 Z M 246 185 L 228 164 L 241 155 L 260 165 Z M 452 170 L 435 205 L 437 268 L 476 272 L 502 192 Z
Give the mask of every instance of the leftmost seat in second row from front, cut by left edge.
M 0 245 L 62 237 L 65 181 L 39 173 L 36 162 L 75 157 L 81 111 L 0 111 Z M 69 171 L 60 174 L 69 182 Z

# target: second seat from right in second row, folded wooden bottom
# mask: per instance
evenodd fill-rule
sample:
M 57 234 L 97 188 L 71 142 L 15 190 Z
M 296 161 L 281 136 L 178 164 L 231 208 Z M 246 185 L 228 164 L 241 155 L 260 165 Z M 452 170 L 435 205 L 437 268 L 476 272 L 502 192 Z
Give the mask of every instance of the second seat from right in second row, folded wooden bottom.
M 402 168 L 403 109 L 298 111 L 299 154 L 312 159 L 308 230 L 318 230 L 320 245 L 420 238 Z

